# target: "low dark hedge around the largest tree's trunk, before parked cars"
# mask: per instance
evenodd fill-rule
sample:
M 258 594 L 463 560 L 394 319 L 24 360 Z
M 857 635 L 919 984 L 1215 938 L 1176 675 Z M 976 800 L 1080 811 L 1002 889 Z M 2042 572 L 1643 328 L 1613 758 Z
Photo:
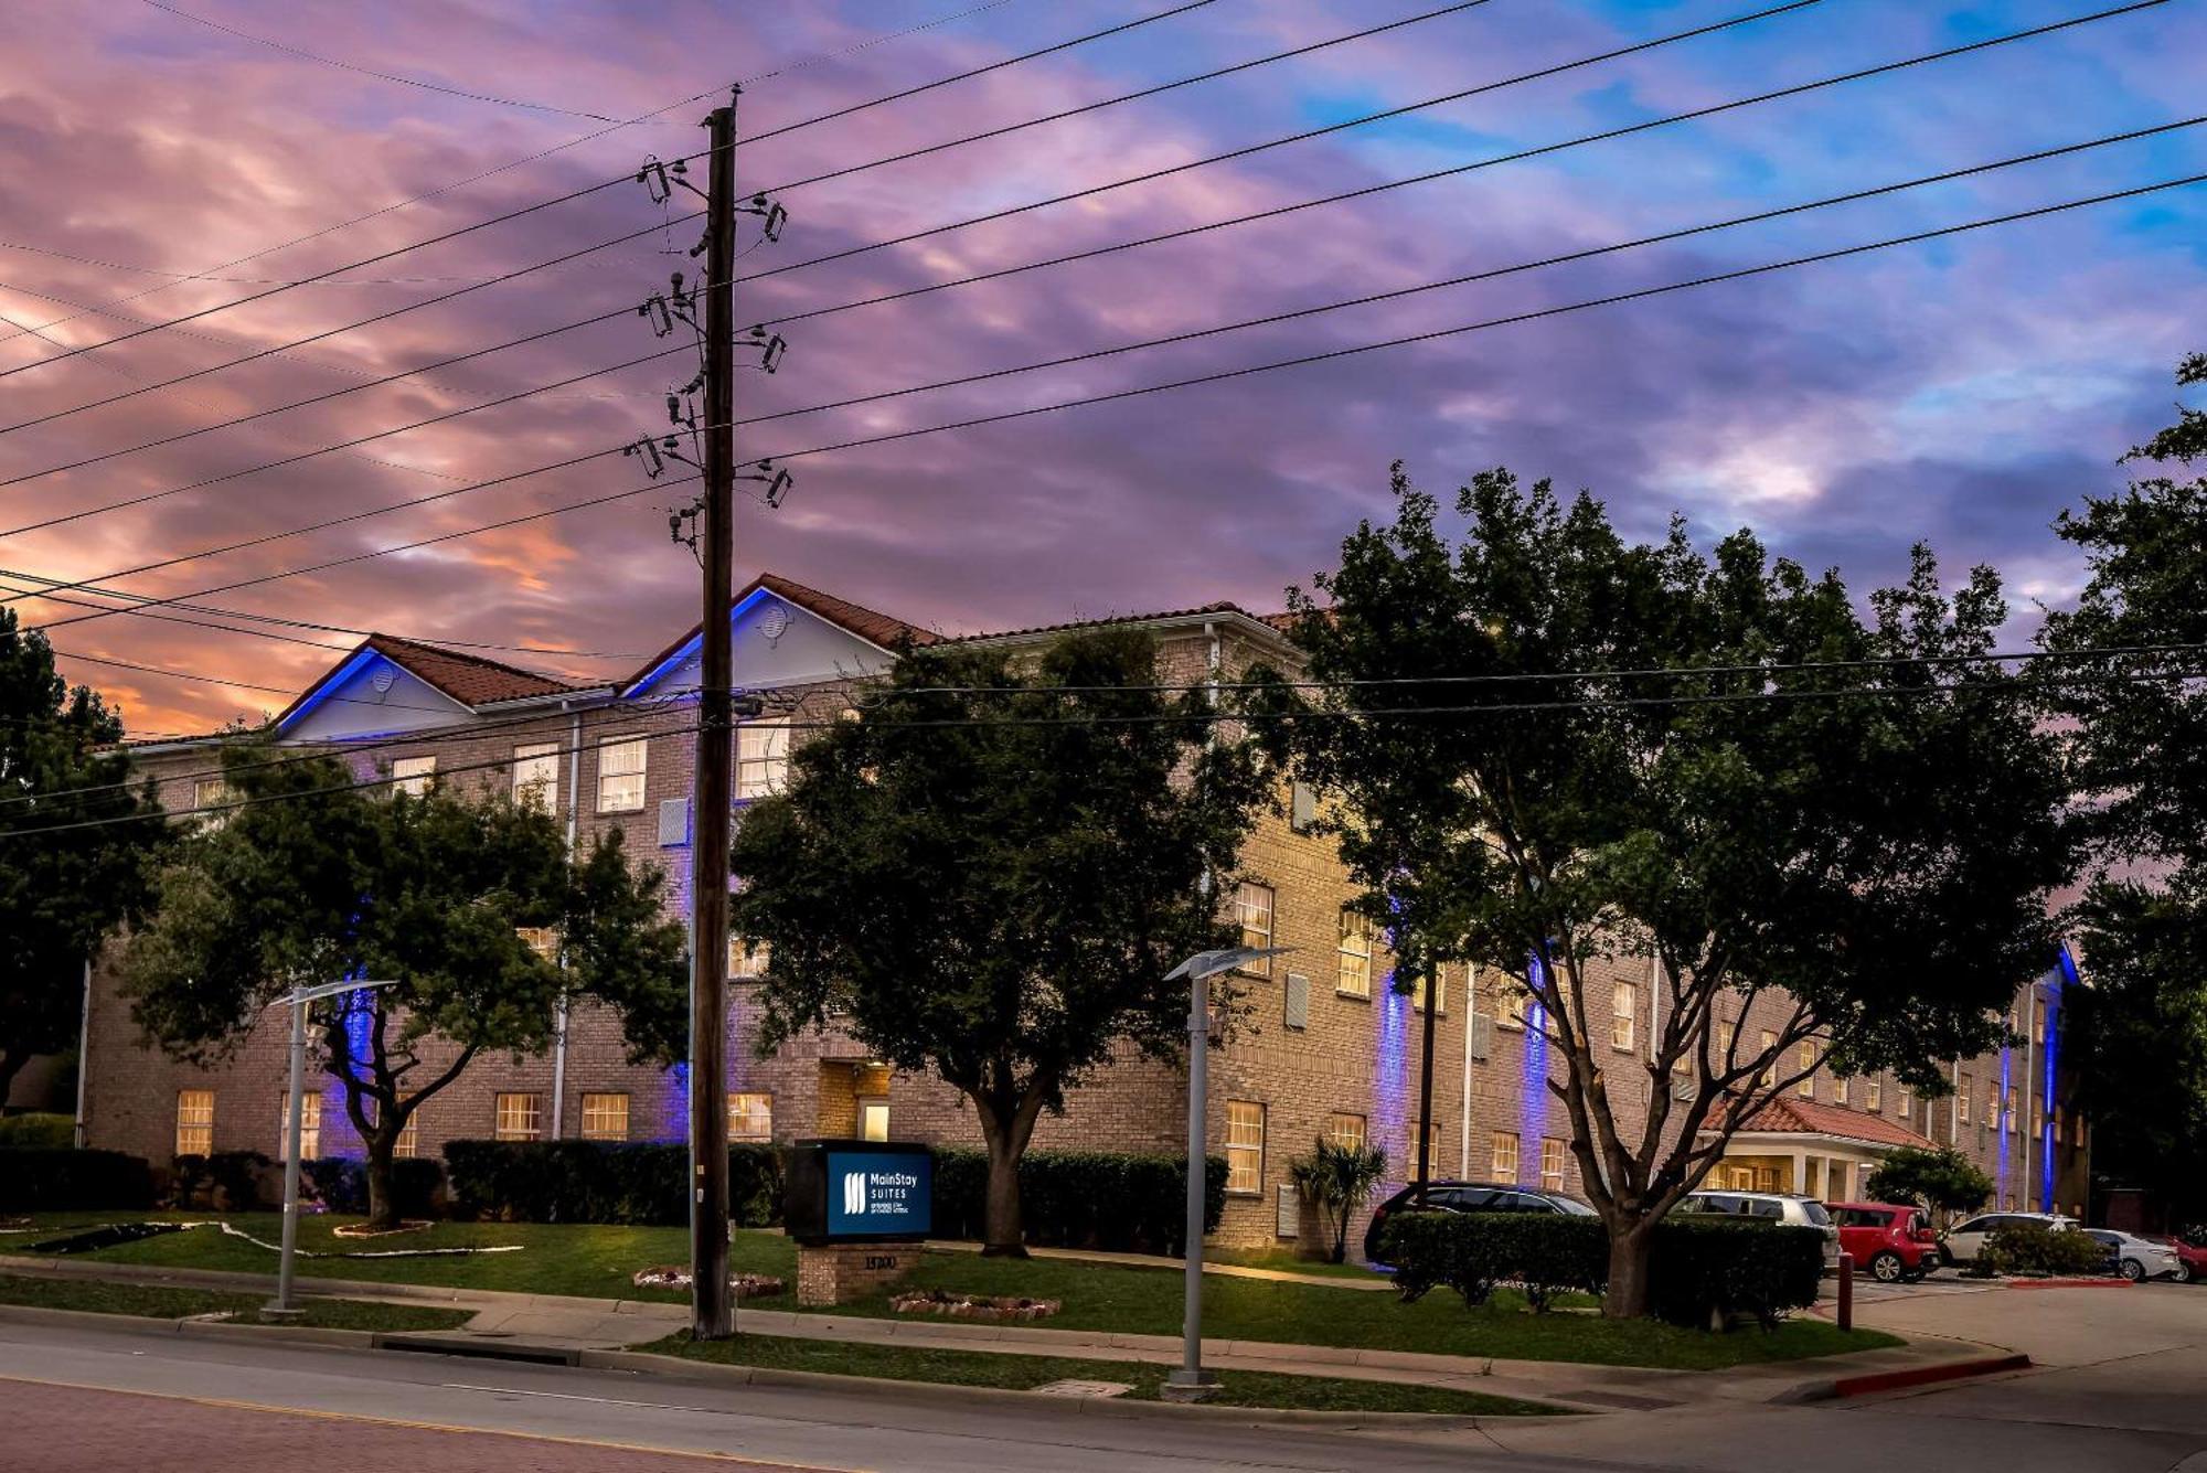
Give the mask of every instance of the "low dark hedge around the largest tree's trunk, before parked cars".
M 1446 1286 L 1479 1305 L 1494 1286 L 1514 1283 L 1545 1310 L 1560 1292 L 1609 1288 L 1609 1230 L 1596 1217 L 1399 1213 L 1379 1244 L 1404 1299 Z M 1655 1224 L 1649 1310 L 1673 1325 L 1752 1314 L 1768 1327 L 1816 1303 L 1821 1279 L 1816 1228 L 1671 1217 Z

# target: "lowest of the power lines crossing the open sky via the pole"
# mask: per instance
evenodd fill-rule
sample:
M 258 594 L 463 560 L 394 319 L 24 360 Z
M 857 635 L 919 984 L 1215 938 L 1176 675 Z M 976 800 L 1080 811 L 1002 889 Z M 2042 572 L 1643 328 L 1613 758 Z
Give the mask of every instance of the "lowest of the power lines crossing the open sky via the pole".
M 1715 271 L 1715 273 L 1695 276 L 1695 278 L 1680 280 L 1680 282 L 1664 282 L 1664 284 L 1657 284 L 1657 287 L 1640 287 L 1640 289 L 1633 289 L 1633 291 L 1618 291 L 1618 293 L 1609 293 L 1609 295 L 1600 295 L 1600 298 L 1589 298 L 1589 300 L 1580 300 L 1580 302 L 1565 302 L 1565 304 L 1558 304 L 1558 307 L 1543 307 L 1543 309 L 1534 309 L 1534 311 L 1510 313 L 1510 315 L 1503 315 L 1503 318 L 1488 318 L 1488 320 L 1479 320 L 1479 322 L 1463 322 L 1463 324 L 1457 324 L 1457 326 L 1430 329 L 1430 331 L 1424 331 L 1424 333 L 1406 333 L 1406 335 L 1386 337 L 1386 340 L 1379 340 L 1379 342 L 1364 342 L 1364 344 L 1351 344 L 1351 346 L 1342 346 L 1342 348 L 1326 348 L 1322 353 L 1304 353 L 1304 355 L 1298 355 L 1298 357 L 1284 357 L 1284 359 L 1273 359 L 1273 362 L 1265 362 L 1265 364 L 1247 364 L 1247 366 L 1240 366 L 1240 368 L 1225 368 L 1225 370 L 1218 370 L 1218 373 L 1203 373 L 1203 375 L 1192 375 L 1192 377 L 1183 377 L 1183 379 L 1168 379 L 1163 384 L 1143 384 L 1143 386 L 1134 386 L 1134 388 L 1121 388 L 1121 390 L 1104 393 L 1104 395 L 1086 395 L 1086 397 L 1079 397 L 1079 399 L 1062 399 L 1062 401 L 1055 401 L 1055 404 L 1037 404 L 1037 406 L 1028 406 L 1028 408 L 1020 408 L 1020 410 L 1004 410 L 1004 412 L 995 412 L 995 415 L 978 415 L 978 417 L 971 417 L 971 419 L 958 419 L 958 421 L 949 421 L 949 423 L 918 426 L 918 428 L 911 428 L 911 430 L 894 430 L 894 432 L 885 432 L 885 434 L 870 434 L 870 437 L 859 437 L 859 439 L 847 439 L 847 441 L 836 441 L 836 443 L 825 443 L 825 445 L 812 445 L 812 448 L 806 448 L 806 450 L 788 450 L 788 452 L 777 452 L 777 454 L 766 456 L 766 459 L 772 459 L 772 461 L 781 463 L 781 461 L 792 461 L 792 459 L 803 459 L 803 456 L 814 456 L 814 454 L 830 454 L 830 452 L 836 452 L 836 450 L 856 450 L 856 448 L 863 448 L 863 445 L 885 445 L 885 443 L 894 443 L 894 441 L 918 439 L 923 434 L 942 434 L 947 430 L 971 430 L 971 428 L 989 426 L 989 423 L 1009 423 L 1009 421 L 1015 421 L 1015 419 L 1028 419 L 1028 417 L 1035 417 L 1035 415 L 1051 415 L 1051 412 L 1068 410 L 1068 408 L 1086 408 L 1086 406 L 1095 406 L 1095 404 L 1115 404 L 1115 401 L 1121 401 L 1121 399 L 1139 399 L 1139 397 L 1145 397 L 1145 395 L 1159 395 L 1159 393 L 1170 393 L 1170 390 L 1179 390 L 1179 388 L 1194 388 L 1198 384 L 1223 384 L 1227 379 L 1251 377 L 1251 375 L 1258 375 L 1258 373 L 1273 373 L 1273 370 L 1280 370 L 1280 368 L 1300 368 L 1300 366 L 1309 366 L 1309 364 L 1324 364 L 1324 362 L 1335 362 L 1335 359 L 1344 359 L 1344 357 L 1357 357 L 1357 355 L 1364 355 L 1364 353 L 1379 353 L 1379 351 L 1386 351 L 1386 348 L 1401 348 L 1401 346 L 1412 346 L 1412 344 L 1424 344 L 1424 342 L 1437 342 L 1437 340 L 1443 340 L 1443 337 L 1459 337 L 1463 333 L 1479 333 L 1479 331 L 1490 331 L 1490 329 L 1501 329 L 1501 326 L 1514 326 L 1514 324 L 1523 324 L 1523 322 L 1540 322 L 1540 320 L 1547 320 L 1547 318 L 1563 318 L 1563 315 L 1578 313 L 1578 311 L 1589 311 L 1589 309 L 1596 309 L 1596 307 L 1616 307 L 1616 304 L 1622 304 L 1622 302 L 1638 302 L 1638 300 L 1668 295 L 1668 293 L 1677 293 L 1677 291 L 1693 291 L 1693 289 L 1710 287 L 1710 284 L 1719 284 L 1719 282 L 1735 282 L 1735 280 L 1746 280 L 1746 278 L 1755 278 L 1755 276 L 1768 276 L 1768 273 L 1774 273 L 1774 271 L 1790 271 L 1790 269 L 1796 269 L 1796 267 L 1819 265 L 1819 262 L 1827 262 L 1827 260 L 1845 260 L 1845 258 L 1852 258 L 1852 256 L 1865 256 L 1865 254 L 1872 254 L 1872 251 L 1883 251 L 1883 249 L 1891 249 L 1891 247 L 1900 247 L 1900 245 L 1918 245 L 1918 243 L 1925 243 L 1925 240 L 1942 240 L 1942 238 L 1951 238 L 1951 236 L 1960 236 L 1960 234 L 1969 234 L 1969 232 L 1977 232 L 1977 229 L 1991 229 L 1995 225 L 2013 225 L 2013 223 L 2022 223 L 2022 221 L 2035 221 L 2035 218 L 2046 218 L 2046 216 L 2064 214 L 2064 212 L 2070 212 L 2070 209 L 2083 209 L 2083 207 L 2090 207 L 2090 205 L 2105 205 L 2105 203 L 2125 201 L 2125 198 L 2143 198 L 2147 194 L 2158 194 L 2158 192 L 2165 192 L 2165 190 L 2178 190 L 2178 187 L 2187 187 L 2187 185 L 2194 185 L 2194 183 L 2200 183 L 2200 181 L 2207 181 L 2207 174 L 2187 174 L 2187 176 L 2181 176 L 2181 179 L 2165 179 L 2165 181 L 2158 181 L 2158 183 L 2136 185 L 2136 187 L 2130 187 L 2130 190 L 2112 190 L 2112 192 L 2103 192 L 2103 194 L 2090 194 L 2090 196 L 2083 196 L 2083 198 L 2070 198 L 2070 201 L 2061 201 L 2061 203 L 2053 203 L 2053 205 L 2039 205 L 2039 207 L 2033 207 L 2033 209 L 2015 209 L 2015 212 L 2006 212 L 2006 214 L 1997 214 L 1997 216 L 1982 216 L 1982 218 L 1975 218 L 1975 221 L 1964 221 L 1960 225 L 1944 225 L 1944 227 L 1936 227 L 1936 229 L 1909 232 L 1905 236 L 1887 236 L 1883 240 L 1867 240 L 1867 243 L 1861 243 L 1861 245 L 1838 247 L 1838 249 L 1830 249 L 1830 251 L 1812 251 L 1812 254 L 1805 254 L 1805 256 L 1790 256 L 1785 260 L 1763 262 L 1763 265 L 1755 265 L 1755 267 L 1735 267 L 1730 271 Z M 605 452 L 600 452 L 600 454 L 605 454 Z M 596 456 L 578 456 L 578 459 L 596 459 Z M 267 582 L 278 582 L 282 578 L 298 578 L 298 576 L 305 576 L 305 573 L 318 573 L 318 571 L 327 571 L 331 567 L 344 567 L 344 565 L 364 562 L 364 560 L 371 560 L 371 558 L 382 558 L 382 556 L 391 556 L 391 553 L 399 553 L 399 551 L 415 551 L 419 547 L 428 547 L 428 545 L 437 545 L 437 542 L 448 542 L 448 540 L 455 540 L 455 538 L 477 536 L 481 531 L 497 531 L 497 529 L 514 527 L 514 525 L 521 525 L 521 523 L 543 520 L 547 516 L 563 516 L 567 512 L 580 512 L 580 509 L 589 509 L 589 507 L 600 507 L 600 505 L 607 505 L 611 501 L 622 501 L 622 498 L 629 498 L 629 496 L 640 496 L 640 494 L 653 490 L 653 485 L 678 485 L 678 483 L 693 481 L 693 479 L 695 476 L 682 476 L 682 479 L 675 479 L 675 481 L 655 481 L 655 483 L 647 483 L 647 485 L 640 485 L 640 487 L 631 487 L 627 492 L 616 492 L 611 496 L 591 496 L 591 498 L 576 501 L 576 503 L 563 505 L 563 507 L 547 507 L 547 509 L 541 509 L 541 512 L 532 512 L 527 516 L 503 518 L 503 520 L 486 523 L 486 525 L 479 525 L 479 527 L 463 527 L 463 529 L 446 531 L 446 534 L 439 534 L 435 538 L 424 538 L 424 540 L 417 540 L 417 542 L 399 542 L 395 547 L 371 549 L 371 551 L 353 553 L 353 556 L 346 556 L 346 558 L 335 558 L 335 560 L 329 560 L 329 562 L 316 562 L 316 565 L 309 565 L 309 567 L 296 567 L 296 569 L 282 569 L 282 571 L 276 571 L 276 573 L 263 573 L 263 576 L 256 576 L 256 578 L 247 578 L 247 580 L 238 580 L 238 582 L 227 582 L 227 584 L 218 584 L 218 587 L 212 587 L 212 589 L 196 589 L 192 593 L 174 593 L 174 595 L 152 598 L 152 595 L 126 593 L 126 591 L 119 591 L 119 589 L 95 589 L 97 593 L 104 593 L 108 598 L 130 598 L 130 600 L 137 600 L 137 604 L 135 606 L 102 609 L 102 611 L 93 611 L 93 613 L 71 615 L 66 620 L 51 620 L 46 624 L 33 624 L 31 628 L 64 628 L 68 624 L 82 624 L 82 622 L 97 620 L 97 617 L 108 617 L 108 615 L 115 615 L 115 613 L 139 613 L 141 609 L 148 609 L 148 606 L 163 606 L 163 604 L 172 604 L 172 602 L 179 602 L 179 600 L 196 600 L 196 598 L 207 598 L 207 595 L 214 595 L 214 593 L 227 593 L 232 589 L 258 587 L 258 584 L 267 584 Z

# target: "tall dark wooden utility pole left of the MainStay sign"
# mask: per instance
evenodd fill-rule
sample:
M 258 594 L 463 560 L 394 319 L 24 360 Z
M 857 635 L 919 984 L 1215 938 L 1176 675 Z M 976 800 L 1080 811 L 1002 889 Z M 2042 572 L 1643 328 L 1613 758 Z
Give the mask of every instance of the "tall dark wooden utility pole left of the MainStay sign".
M 691 798 L 691 1334 L 735 1334 L 728 1288 L 728 807 L 735 778 L 735 106 L 706 119 L 704 631 Z

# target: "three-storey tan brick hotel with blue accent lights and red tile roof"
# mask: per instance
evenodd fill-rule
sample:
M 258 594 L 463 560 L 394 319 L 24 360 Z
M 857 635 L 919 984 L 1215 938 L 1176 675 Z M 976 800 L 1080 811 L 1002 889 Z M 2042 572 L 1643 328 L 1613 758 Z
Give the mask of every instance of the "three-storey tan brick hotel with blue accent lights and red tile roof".
M 1236 679 L 1258 662 L 1293 664 L 1280 620 L 1234 604 L 1112 620 L 1145 628 L 1159 675 L 1196 684 Z M 1026 628 L 967 639 L 978 646 L 1042 646 L 1075 626 Z M 792 721 L 834 719 L 854 681 L 881 673 L 894 651 L 942 637 L 790 582 L 764 576 L 737 598 L 735 684 L 775 697 L 770 719 L 737 736 L 735 798 L 772 792 L 788 763 Z M 697 631 L 618 684 L 569 686 L 499 662 L 393 637 L 371 637 L 305 690 L 276 734 L 298 748 L 349 754 L 360 776 L 399 785 L 455 781 L 510 787 L 541 803 L 583 842 L 622 829 L 631 853 L 669 871 L 667 904 L 689 913 L 689 785 L 697 688 Z M 373 743 L 373 750 L 362 750 Z M 221 798 L 207 776 L 214 739 L 137 748 L 143 772 L 174 809 Z M 448 774 L 448 776 L 439 776 Z M 1326 838 L 1307 831 L 1309 794 L 1267 814 L 1243 856 L 1229 897 L 1249 944 L 1293 948 L 1243 977 L 1254 1006 L 1247 1032 L 1212 1063 L 1209 1142 L 1227 1158 L 1227 1211 L 1218 1237 L 1260 1246 L 1300 1239 L 1315 1226 L 1293 1200 L 1287 1164 L 1313 1138 L 1366 1140 L 1388 1153 L 1397 1182 L 1415 1169 L 1424 1010 L 1435 1008 L 1435 1178 L 1510 1180 L 1578 1191 L 1569 1122 L 1547 1092 L 1538 1028 L 1525 1028 L 1523 990 L 1501 975 L 1448 968 L 1430 999 L 1388 986 L 1384 937 L 1344 906 L 1353 886 Z M 799 1136 L 863 1136 L 980 1144 L 971 1109 L 931 1076 L 896 1074 L 836 1032 L 753 1056 L 755 1008 L 733 957 L 731 1136 L 788 1142 Z M 1616 1063 L 1644 1058 L 1655 1034 L 1660 988 L 1653 961 L 1618 961 L 1589 977 L 1589 1019 L 1609 1019 Z M 1827 1200 L 1861 1195 L 1876 1162 L 1898 1144 L 1958 1144 L 1997 1182 L 1997 1206 L 2083 1211 L 2086 1125 L 2068 1103 L 2061 1067 L 2068 959 L 2022 988 L 2011 1014 L 2028 1045 L 1953 1065 L 1953 1094 L 1913 1100 L 1891 1078 L 1836 1078 L 1819 1069 L 1741 1131 L 1710 1184 L 1805 1191 Z M 1761 1008 L 1724 1028 L 1777 1028 Z M 157 1164 L 181 1153 L 282 1153 L 285 1023 L 258 1025 L 238 1054 L 210 1069 L 174 1063 L 141 1039 L 108 968 L 95 968 L 84 1050 L 88 1140 Z M 1618 1076 L 1620 1114 L 1644 1109 L 1644 1067 Z M 358 1151 L 340 1087 L 305 1107 L 307 1155 Z M 1638 1094 L 1635 1094 L 1638 1089 Z M 457 1138 L 669 1140 L 684 1136 L 682 1067 L 625 1061 L 618 1023 L 580 1010 L 543 1058 L 483 1056 L 417 1111 L 402 1153 L 437 1155 Z M 1627 1122 L 1638 1131 L 1635 1122 Z M 1185 1074 L 1126 1058 L 1046 1116 L 1037 1147 L 1179 1151 L 1185 1142 Z M 1351 1241 L 1360 1241 L 1353 1235 Z

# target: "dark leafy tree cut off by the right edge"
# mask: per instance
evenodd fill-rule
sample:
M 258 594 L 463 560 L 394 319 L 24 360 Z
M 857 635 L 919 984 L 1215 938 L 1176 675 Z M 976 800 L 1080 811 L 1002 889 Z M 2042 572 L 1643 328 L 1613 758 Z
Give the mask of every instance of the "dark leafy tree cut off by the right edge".
M 2207 384 L 2207 353 L 2178 370 Z M 2207 412 L 2125 461 L 2158 474 L 2086 496 L 2055 529 L 2090 573 L 2075 609 L 2046 617 L 2059 655 L 2066 741 L 2099 878 L 2075 906 L 2090 988 L 2077 994 L 2079 1105 L 2094 1171 L 2147 1186 L 2185 1219 L 2207 1215 Z M 2161 648 L 2154 646 L 2192 646 Z M 2101 655 L 2097 651 L 2132 651 Z

